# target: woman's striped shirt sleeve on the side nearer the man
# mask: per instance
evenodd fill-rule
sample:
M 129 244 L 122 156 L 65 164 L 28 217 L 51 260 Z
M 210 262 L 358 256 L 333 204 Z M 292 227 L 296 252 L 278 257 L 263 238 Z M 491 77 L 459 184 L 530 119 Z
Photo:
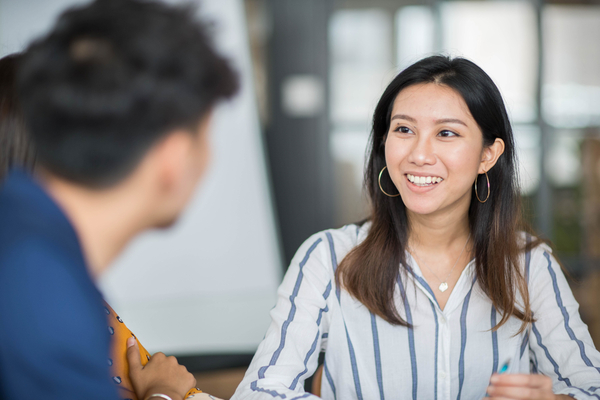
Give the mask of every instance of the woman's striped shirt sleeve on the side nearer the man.
M 322 234 L 309 238 L 294 256 L 278 289 L 271 325 L 232 400 L 317 399 L 304 380 L 317 368 L 327 333 L 332 279 Z

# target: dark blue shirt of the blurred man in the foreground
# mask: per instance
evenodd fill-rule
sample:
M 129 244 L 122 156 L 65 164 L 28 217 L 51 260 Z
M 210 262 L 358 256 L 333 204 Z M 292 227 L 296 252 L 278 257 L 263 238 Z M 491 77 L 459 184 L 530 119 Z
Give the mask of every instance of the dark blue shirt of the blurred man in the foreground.
M 0 189 L 0 398 L 116 399 L 109 339 L 73 226 L 13 171 Z

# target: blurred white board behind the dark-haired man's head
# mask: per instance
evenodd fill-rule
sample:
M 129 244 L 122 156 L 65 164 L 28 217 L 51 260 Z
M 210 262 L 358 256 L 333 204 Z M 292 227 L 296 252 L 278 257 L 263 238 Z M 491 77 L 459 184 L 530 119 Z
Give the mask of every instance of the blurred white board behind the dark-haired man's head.
M 24 49 L 75 3 L 83 1 L 0 0 L 1 55 Z M 215 23 L 241 92 L 215 112 L 212 162 L 179 222 L 136 238 L 99 286 L 150 352 L 254 352 L 283 269 L 243 1 L 203 1 L 198 17 Z

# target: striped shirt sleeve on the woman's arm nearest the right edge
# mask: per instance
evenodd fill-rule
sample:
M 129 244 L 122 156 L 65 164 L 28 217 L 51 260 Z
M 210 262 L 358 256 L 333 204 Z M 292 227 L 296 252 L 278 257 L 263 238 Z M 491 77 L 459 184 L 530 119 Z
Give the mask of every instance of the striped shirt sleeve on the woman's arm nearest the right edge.
M 552 378 L 556 394 L 600 398 L 600 354 L 559 263 L 547 246 L 540 246 L 526 267 L 536 319 L 529 337 L 534 368 Z

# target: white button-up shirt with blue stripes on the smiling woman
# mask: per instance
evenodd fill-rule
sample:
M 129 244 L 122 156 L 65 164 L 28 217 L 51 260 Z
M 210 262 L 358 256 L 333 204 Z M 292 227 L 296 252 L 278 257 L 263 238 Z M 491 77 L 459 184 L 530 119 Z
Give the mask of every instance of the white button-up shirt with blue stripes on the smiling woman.
M 340 290 L 338 262 L 369 224 L 320 232 L 298 250 L 278 291 L 272 323 L 232 400 L 316 398 L 303 382 L 325 351 L 323 399 L 481 399 L 494 371 L 539 371 L 557 394 L 600 399 L 600 354 L 550 249 L 522 256 L 536 322 L 500 320 L 472 261 L 444 310 L 407 253 L 414 275 L 398 278 L 395 301 L 414 326 L 391 325 Z M 406 296 L 406 301 L 401 298 Z

